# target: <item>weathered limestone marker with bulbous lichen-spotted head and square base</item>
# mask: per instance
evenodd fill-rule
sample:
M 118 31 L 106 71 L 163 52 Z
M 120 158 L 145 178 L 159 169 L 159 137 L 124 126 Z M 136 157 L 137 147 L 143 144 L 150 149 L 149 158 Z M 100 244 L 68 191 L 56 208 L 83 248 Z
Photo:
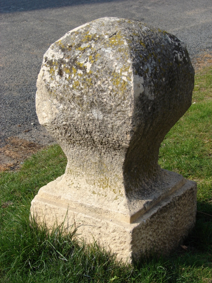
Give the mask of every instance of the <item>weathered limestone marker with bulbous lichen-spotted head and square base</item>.
M 36 110 L 68 164 L 33 199 L 35 220 L 74 225 L 124 261 L 177 248 L 195 224 L 197 186 L 161 169 L 158 154 L 193 86 L 184 44 L 141 22 L 101 18 L 53 43 Z

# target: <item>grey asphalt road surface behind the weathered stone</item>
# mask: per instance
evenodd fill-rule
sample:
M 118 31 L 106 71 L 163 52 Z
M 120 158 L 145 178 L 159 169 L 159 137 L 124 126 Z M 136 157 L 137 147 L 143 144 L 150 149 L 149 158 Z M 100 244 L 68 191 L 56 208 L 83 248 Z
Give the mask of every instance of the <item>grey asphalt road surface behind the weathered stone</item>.
M 43 54 L 67 31 L 107 16 L 175 34 L 191 59 L 212 51 L 211 0 L 0 0 L 0 146 L 10 136 L 52 142 L 35 111 Z

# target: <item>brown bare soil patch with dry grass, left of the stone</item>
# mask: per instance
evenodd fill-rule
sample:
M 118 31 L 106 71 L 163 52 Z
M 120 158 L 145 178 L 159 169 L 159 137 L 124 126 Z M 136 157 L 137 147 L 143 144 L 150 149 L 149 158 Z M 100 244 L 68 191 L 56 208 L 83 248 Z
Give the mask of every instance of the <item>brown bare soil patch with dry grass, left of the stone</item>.
M 28 140 L 10 137 L 0 148 L 0 171 L 13 171 L 21 167 L 25 159 L 42 149 L 42 145 Z

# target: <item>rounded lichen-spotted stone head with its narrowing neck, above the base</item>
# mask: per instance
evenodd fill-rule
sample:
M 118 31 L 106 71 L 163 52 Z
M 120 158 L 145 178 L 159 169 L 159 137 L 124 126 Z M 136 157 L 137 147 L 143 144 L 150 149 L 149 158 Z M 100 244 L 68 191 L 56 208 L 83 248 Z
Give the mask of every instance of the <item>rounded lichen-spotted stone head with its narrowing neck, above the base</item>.
M 99 176 L 100 186 L 103 175 L 108 184 L 115 175 L 132 184 L 158 174 L 160 143 L 191 105 L 193 85 L 188 52 L 174 35 L 106 17 L 46 51 L 36 110 L 68 157 L 66 173 Z

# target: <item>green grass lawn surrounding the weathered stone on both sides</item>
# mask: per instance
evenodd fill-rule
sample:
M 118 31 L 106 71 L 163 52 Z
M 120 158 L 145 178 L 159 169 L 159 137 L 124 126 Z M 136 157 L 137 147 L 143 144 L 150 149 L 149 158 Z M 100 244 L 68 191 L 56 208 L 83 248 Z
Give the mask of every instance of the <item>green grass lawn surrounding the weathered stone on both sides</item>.
M 187 251 L 150 254 L 135 265 L 118 262 L 95 242 L 86 245 L 55 227 L 30 224 L 30 201 L 62 175 L 58 145 L 26 160 L 19 172 L 0 173 L 0 282 L 212 282 L 212 68 L 195 76 L 192 106 L 161 144 L 159 164 L 197 181 L 196 226 Z M 203 213 L 202 213 L 203 212 Z

